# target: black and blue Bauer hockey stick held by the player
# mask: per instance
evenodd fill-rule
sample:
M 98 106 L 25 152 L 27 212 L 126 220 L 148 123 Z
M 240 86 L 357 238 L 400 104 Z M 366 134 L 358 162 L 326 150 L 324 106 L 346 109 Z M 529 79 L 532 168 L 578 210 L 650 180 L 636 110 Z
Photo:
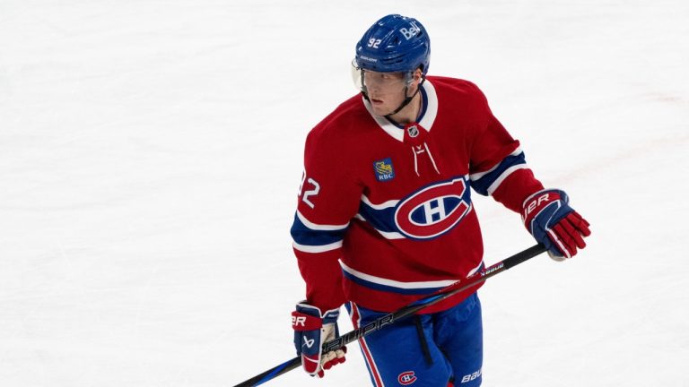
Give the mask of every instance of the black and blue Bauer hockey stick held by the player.
M 426 306 L 437 304 L 448 297 L 452 297 L 458 294 L 459 292 L 466 290 L 467 288 L 474 287 L 475 285 L 478 285 L 484 280 L 487 280 L 493 277 L 494 275 L 497 275 L 501 271 L 506 271 L 514 266 L 517 266 L 519 263 L 528 261 L 529 259 L 541 253 L 545 253 L 544 245 L 539 244 L 531 246 L 522 252 L 519 252 L 517 254 L 510 256 L 509 258 L 502 260 L 501 262 L 493 264 L 493 266 L 484 268 L 484 270 L 476 272 L 474 275 L 467 277 L 467 280 L 459 280 L 447 288 L 441 288 L 440 290 L 438 290 L 430 296 L 423 297 L 412 304 L 403 306 L 397 309 L 397 311 L 392 312 L 390 314 L 386 314 L 380 317 L 379 319 L 372 321 L 371 323 L 368 323 L 353 331 L 347 332 L 335 340 L 327 341 L 327 343 L 323 344 L 323 352 L 325 353 L 331 350 L 335 350 L 337 348 L 341 348 L 345 346 L 345 344 L 349 344 L 354 340 L 359 340 L 360 338 L 371 334 L 371 332 L 379 331 L 380 329 L 397 322 L 397 320 L 401 320 L 412 314 L 415 314 L 416 312 L 422 310 Z M 288 371 L 292 371 L 292 369 L 297 368 L 300 365 L 301 357 L 294 357 L 292 360 L 288 360 L 280 366 L 275 366 L 274 368 L 271 368 L 262 374 L 257 374 L 251 379 L 243 383 L 239 383 L 234 387 L 257 386 L 266 383 L 267 381 L 274 379 L 275 377 L 281 374 L 284 374 Z

